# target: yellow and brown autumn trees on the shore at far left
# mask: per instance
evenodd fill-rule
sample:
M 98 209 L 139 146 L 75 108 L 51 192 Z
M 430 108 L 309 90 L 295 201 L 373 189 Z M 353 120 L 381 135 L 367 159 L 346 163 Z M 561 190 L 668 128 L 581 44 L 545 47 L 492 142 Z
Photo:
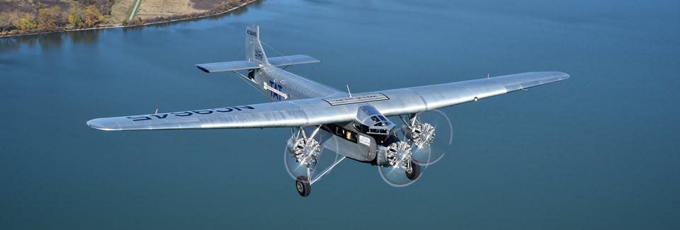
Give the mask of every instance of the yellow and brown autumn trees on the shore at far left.
M 72 7 L 69 13 L 62 12 L 60 6 L 38 8 L 38 16 L 17 10 L 4 11 L 0 13 L 0 36 L 54 32 L 67 28 L 92 28 L 104 19 L 101 11 L 94 5 L 83 11 Z

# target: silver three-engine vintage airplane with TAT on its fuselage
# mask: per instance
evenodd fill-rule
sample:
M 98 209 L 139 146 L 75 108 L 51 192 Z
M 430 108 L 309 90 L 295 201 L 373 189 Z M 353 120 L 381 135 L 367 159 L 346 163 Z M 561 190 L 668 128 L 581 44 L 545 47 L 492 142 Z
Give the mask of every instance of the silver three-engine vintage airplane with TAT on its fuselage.
M 321 61 L 307 55 L 267 57 L 261 45 L 259 25 L 249 25 L 246 60 L 196 64 L 196 67 L 206 73 L 233 71 L 271 102 L 105 117 L 89 120 L 87 125 L 98 130 L 287 127 L 292 134 L 285 146 L 285 165 L 295 178 L 298 194 L 306 197 L 310 195 L 311 185 L 344 159 L 377 166 L 390 185 L 409 185 L 419 178 L 421 167 L 443 156 L 444 151 L 435 149 L 436 143 L 450 144 L 450 121 L 438 109 L 570 77 L 559 71 L 539 71 L 351 93 L 349 87 L 347 91 L 340 91 L 284 70 L 291 65 L 317 62 Z M 402 125 L 389 117 L 399 119 Z M 335 159 L 321 171 L 317 164 L 321 156 L 329 156 L 322 154 L 328 151 L 335 154 Z

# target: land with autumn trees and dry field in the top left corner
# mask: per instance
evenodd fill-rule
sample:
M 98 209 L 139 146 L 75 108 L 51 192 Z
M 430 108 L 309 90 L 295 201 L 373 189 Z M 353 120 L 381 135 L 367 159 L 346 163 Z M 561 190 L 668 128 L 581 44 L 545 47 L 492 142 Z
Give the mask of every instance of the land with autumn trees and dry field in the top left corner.
M 252 1 L 255 0 L 0 0 L 0 36 L 199 18 Z

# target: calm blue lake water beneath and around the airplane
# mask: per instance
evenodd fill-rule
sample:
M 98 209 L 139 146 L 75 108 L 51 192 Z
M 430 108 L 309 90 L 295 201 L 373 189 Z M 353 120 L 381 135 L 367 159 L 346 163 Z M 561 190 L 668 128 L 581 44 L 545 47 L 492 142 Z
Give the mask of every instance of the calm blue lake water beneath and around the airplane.
M 103 132 L 89 119 L 266 102 L 193 64 L 261 25 L 288 70 L 353 92 L 572 78 L 446 108 L 406 188 L 346 161 L 299 197 L 288 129 Z M 678 1 L 263 1 L 217 18 L 0 39 L 0 229 L 679 229 Z M 273 47 L 273 50 L 270 47 Z

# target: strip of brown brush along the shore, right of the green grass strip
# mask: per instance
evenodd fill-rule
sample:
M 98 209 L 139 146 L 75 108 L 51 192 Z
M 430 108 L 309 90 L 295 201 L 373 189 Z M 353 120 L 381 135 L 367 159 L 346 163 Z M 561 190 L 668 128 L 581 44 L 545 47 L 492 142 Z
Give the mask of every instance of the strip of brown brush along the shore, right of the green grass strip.
M 232 8 L 236 8 L 238 6 L 241 6 L 242 4 L 249 2 L 252 0 L 225 0 L 222 1 L 219 4 L 215 4 L 215 6 L 212 6 L 212 9 L 210 11 L 205 11 L 203 13 L 189 13 L 189 14 L 181 14 L 181 15 L 174 15 L 174 16 L 159 16 L 155 18 L 136 18 L 135 20 L 132 21 L 123 21 L 123 25 L 145 25 L 149 23 L 162 23 L 166 21 L 176 21 L 176 20 L 185 20 L 185 19 L 191 19 L 191 18 L 202 18 L 205 16 L 212 16 L 218 13 L 225 13 L 226 11 L 231 10 Z

